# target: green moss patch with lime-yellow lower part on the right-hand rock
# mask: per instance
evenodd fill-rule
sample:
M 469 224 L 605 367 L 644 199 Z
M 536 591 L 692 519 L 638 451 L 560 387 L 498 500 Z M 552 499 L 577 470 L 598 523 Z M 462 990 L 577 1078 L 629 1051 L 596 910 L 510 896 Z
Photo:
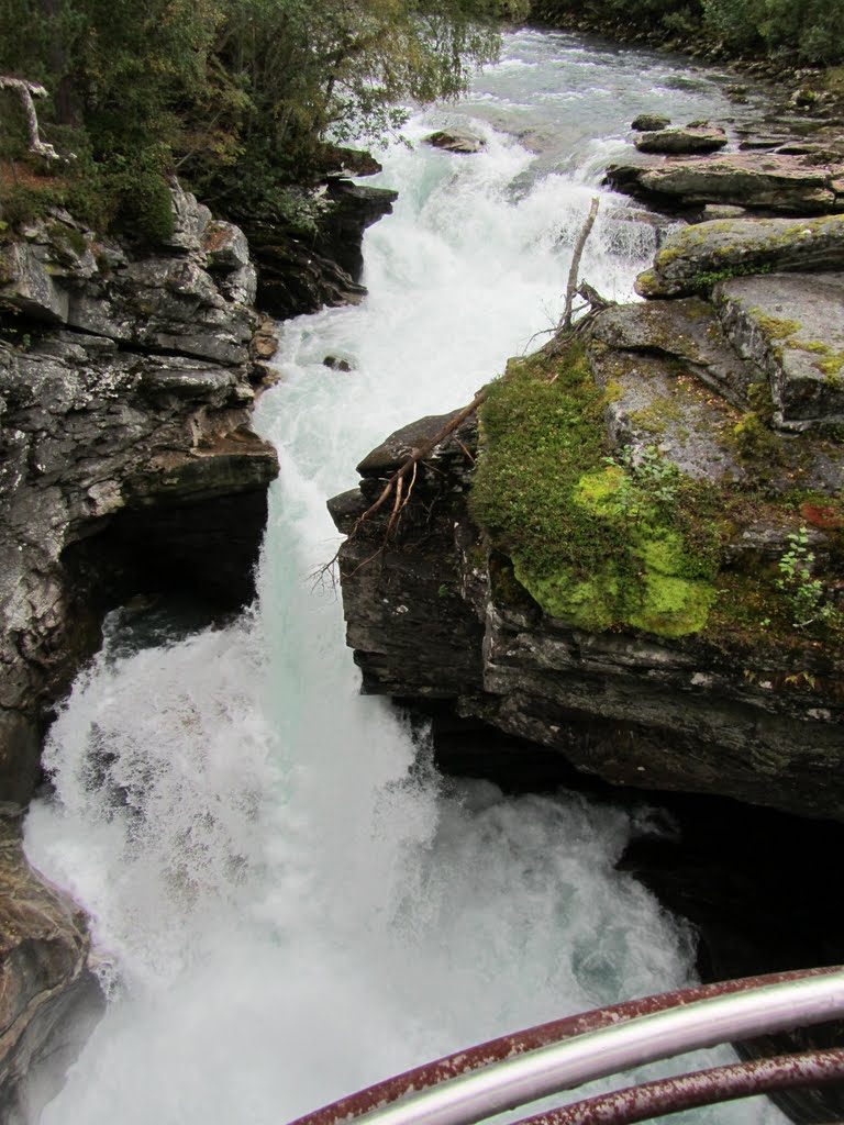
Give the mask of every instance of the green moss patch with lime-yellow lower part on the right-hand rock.
M 719 560 L 704 518 L 711 486 L 655 450 L 638 465 L 613 461 L 603 406 L 580 344 L 554 364 L 511 361 L 482 411 L 473 516 L 553 616 L 593 630 L 699 632 Z

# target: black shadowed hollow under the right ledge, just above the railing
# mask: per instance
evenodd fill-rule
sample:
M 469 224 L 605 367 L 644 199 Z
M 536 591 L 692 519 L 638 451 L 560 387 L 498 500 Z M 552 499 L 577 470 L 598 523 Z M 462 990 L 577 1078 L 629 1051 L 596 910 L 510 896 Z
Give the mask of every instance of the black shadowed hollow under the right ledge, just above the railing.
M 844 904 L 829 882 L 844 826 L 734 801 L 654 796 L 676 829 L 634 839 L 620 866 L 692 922 L 703 981 L 844 961 Z M 760 1058 L 843 1041 L 844 1022 L 835 1022 L 736 1046 L 744 1058 Z M 841 1087 L 784 1091 L 773 1100 L 803 1125 L 844 1116 Z

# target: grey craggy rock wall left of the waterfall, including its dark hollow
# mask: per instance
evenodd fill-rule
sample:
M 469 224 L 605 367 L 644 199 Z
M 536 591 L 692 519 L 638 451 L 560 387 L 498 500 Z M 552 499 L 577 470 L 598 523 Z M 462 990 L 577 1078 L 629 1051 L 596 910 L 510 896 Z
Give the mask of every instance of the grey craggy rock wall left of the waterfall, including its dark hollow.
M 0 802 L 18 810 L 51 708 L 109 608 L 138 592 L 224 611 L 253 596 L 278 461 L 250 414 L 275 338 L 252 310 L 242 232 L 178 188 L 173 212 L 156 246 L 60 210 L 0 233 Z M 52 1096 L 98 990 L 84 919 L 29 871 L 18 820 L 0 825 L 0 1118 L 11 1122 L 37 1110 L 36 1088 Z

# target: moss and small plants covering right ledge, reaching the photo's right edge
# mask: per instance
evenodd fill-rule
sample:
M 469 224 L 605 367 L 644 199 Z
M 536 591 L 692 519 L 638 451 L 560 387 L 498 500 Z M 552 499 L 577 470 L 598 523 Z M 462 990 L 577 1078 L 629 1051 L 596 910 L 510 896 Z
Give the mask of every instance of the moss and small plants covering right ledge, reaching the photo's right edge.
M 637 371 L 639 394 L 647 376 Z M 835 474 L 823 488 L 841 447 L 710 400 L 710 417 L 726 417 L 724 457 L 704 475 L 666 440 L 700 440 L 682 368 L 658 390 L 628 411 L 619 443 L 607 416 L 626 390 L 600 345 L 511 361 L 482 411 L 473 518 L 567 626 L 697 634 L 751 664 L 775 647 L 783 676 L 808 683 L 844 642 L 844 502 Z

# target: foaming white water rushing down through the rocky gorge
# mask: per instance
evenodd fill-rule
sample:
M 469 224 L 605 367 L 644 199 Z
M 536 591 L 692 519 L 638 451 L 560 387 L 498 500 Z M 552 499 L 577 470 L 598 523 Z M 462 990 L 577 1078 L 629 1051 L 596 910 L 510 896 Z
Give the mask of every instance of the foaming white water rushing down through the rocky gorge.
M 476 118 L 482 154 L 387 153 L 380 179 L 401 198 L 367 237 L 369 298 L 285 326 L 284 378 L 258 412 L 281 459 L 258 609 L 155 647 L 115 615 L 53 728 L 56 798 L 33 808 L 27 847 L 90 910 L 113 1002 L 46 1125 L 277 1125 L 461 1045 L 689 980 L 684 930 L 613 870 L 628 816 L 442 788 L 388 705 L 358 695 L 341 606 L 308 579 L 338 541 L 325 498 L 360 456 L 466 402 L 554 323 L 595 190 L 584 169 L 671 72 L 632 53 L 613 68 L 566 37 L 508 46 L 449 110 Z M 598 142 L 583 123 L 565 158 L 536 159 L 513 122 L 538 105 L 550 128 L 547 101 L 602 65 L 628 102 Z M 689 116 L 719 106 L 711 87 L 689 97 Z M 584 260 L 614 297 L 653 251 L 625 206 L 605 202 Z M 775 1119 L 758 1101 L 694 1117 Z

